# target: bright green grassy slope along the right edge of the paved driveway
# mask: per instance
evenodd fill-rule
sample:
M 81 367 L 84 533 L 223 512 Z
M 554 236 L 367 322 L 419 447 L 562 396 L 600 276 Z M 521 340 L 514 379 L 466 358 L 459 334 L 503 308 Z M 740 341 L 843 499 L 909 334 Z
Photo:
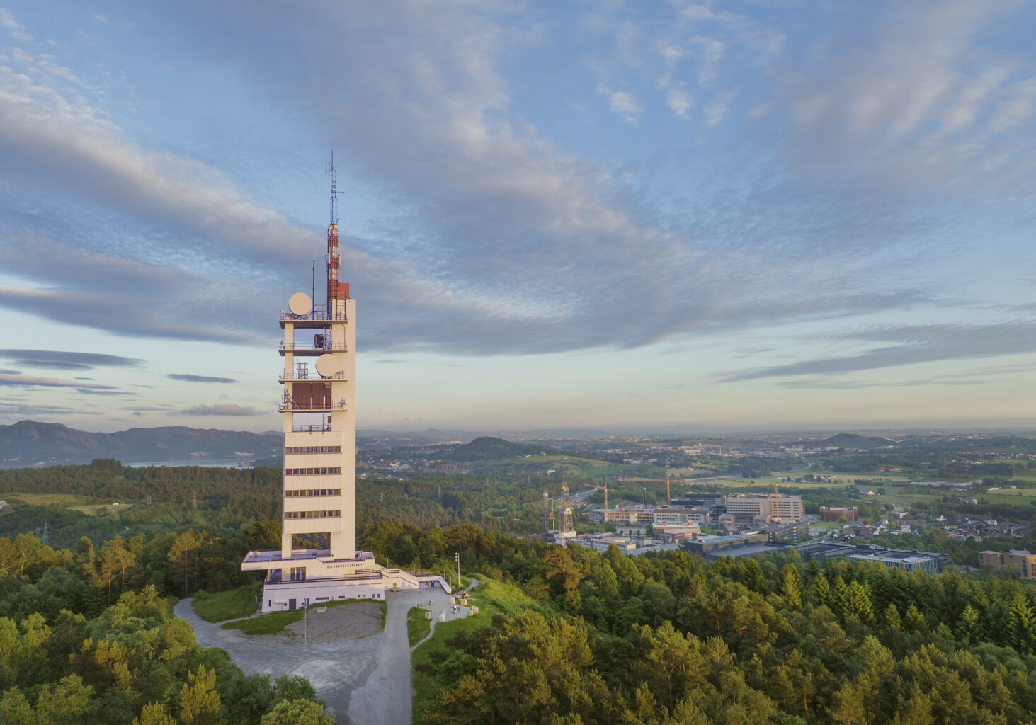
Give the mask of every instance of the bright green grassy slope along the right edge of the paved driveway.
M 482 574 L 473 576 L 479 580 L 479 586 L 474 588 L 472 594 L 473 603 L 479 607 L 479 613 L 463 619 L 437 622 L 432 638 L 413 650 L 411 667 L 413 668 L 413 688 L 416 694 L 413 697 L 412 722 L 421 722 L 425 714 L 439 700 L 440 685 L 436 677 L 421 671 L 419 666 L 434 666 L 432 665 L 432 655 L 435 653 L 448 655 L 450 647 L 447 646 L 445 640 L 457 632 L 470 632 L 488 625 L 490 618 L 497 612 L 513 614 L 518 609 L 535 605 L 533 600 L 515 586 L 494 581 Z

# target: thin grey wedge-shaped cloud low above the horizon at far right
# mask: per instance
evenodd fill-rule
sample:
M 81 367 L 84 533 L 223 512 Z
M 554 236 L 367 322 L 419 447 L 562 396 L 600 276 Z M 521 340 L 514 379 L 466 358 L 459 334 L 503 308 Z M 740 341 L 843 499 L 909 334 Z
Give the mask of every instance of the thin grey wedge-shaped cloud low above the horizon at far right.
M 1033 353 L 1036 352 L 1036 322 L 1013 320 L 994 324 L 879 326 L 836 334 L 832 338 L 894 344 L 871 348 L 856 355 L 821 357 L 788 365 L 736 371 L 723 374 L 719 379 L 723 382 L 737 382 L 800 375 L 842 375 L 917 363 Z M 865 383 L 860 383 L 863 384 Z

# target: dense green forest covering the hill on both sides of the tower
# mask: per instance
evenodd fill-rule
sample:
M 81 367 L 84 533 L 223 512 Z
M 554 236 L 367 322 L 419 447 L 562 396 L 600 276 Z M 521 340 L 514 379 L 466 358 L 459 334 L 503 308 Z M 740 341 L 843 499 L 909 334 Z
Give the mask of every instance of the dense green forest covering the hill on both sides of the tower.
M 176 598 L 255 576 L 239 561 L 277 547 L 280 524 L 264 505 L 232 504 L 235 487 L 276 497 L 276 482 L 226 469 L 136 479 L 140 469 L 95 464 L 78 467 L 91 481 L 58 471 L 39 485 L 154 496 L 164 481 L 178 500 L 109 517 L 66 512 L 118 521 L 125 536 L 54 547 L 31 533 L 0 538 L 0 722 L 330 722 L 308 683 L 246 676 L 172 615 Z M 540 504 L 533 480 L 362 487 L 361 544 L 380 562 L 434 571 L 459 552 L 466 573 L 522 594 L 421 665 L 439 690 L 423 722 L 1036 723 L 1036 586 L 1013 570 L 599 554 L 502 532 L 499 511 Z M 196 508 L 183 496 L 195 489 L 213 498 Z M 0 521 L 40 509 L 60 511 L 20 506 Z M 124 531 L 133 516 L 170 528 Z

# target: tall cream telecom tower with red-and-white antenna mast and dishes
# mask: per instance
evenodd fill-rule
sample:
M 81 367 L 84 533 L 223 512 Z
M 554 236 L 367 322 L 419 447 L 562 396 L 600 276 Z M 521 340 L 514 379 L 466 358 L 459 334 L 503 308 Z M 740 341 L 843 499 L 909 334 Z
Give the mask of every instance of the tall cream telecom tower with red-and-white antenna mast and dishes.
M 298 292 L 280 315 L 281 548 L 250 551 L 241 562 L 243 571 L 265 572 L 263 612 L 328 600 L 383 599 L 387 589 L 421 583 L 407 572 L 375 563 L 372 552 L 356 550 L 356 308 L 348 283 L 340 281 L 334 165 L 332 174 L 326 306 Z M 296 536 L 323 540 L 327 548 L 296 548 Z

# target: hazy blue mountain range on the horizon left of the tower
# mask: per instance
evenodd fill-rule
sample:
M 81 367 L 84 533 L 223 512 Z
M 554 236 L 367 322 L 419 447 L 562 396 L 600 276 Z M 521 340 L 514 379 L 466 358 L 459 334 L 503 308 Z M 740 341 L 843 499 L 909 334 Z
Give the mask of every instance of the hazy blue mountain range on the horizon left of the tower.
M 0 426 L 0 467 L 89 463 L 95 458 L 117 458 L 123 463 L 251 460 L 279 456 L 283 445 L 281 435 L 243 431 L 171 426 L 89 433 L 60 423 L 22 421 Z

